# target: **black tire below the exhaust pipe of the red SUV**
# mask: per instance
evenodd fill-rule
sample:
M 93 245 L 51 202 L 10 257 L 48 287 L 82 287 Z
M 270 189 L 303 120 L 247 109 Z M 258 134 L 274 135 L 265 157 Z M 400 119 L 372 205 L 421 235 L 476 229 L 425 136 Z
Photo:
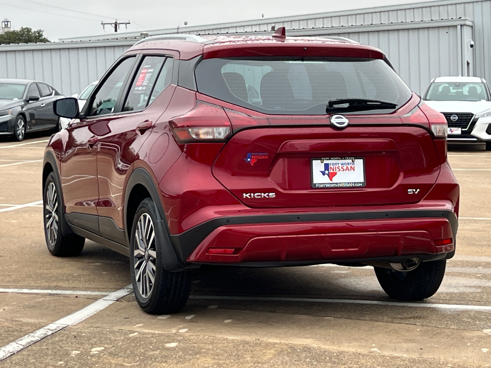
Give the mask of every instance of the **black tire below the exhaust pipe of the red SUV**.
M 421 262 L 409 272 L 374 267 L 383 291 L 397 300 L 422 300 L 436 293 L 445 274 L 446 260 Z

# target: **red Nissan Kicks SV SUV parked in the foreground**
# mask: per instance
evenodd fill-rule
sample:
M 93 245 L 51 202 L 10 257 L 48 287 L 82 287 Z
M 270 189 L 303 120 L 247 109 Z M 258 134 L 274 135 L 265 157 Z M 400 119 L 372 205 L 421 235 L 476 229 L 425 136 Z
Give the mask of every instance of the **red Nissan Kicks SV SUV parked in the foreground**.
M 130 257 L 148 313 L 186 303 L 191 269 L 373 265 L 394 299 L 433 295 L 455 250 L 447 122 L 378 49 L 349 40 L 138 41 L 44 156 L 48 249 Z

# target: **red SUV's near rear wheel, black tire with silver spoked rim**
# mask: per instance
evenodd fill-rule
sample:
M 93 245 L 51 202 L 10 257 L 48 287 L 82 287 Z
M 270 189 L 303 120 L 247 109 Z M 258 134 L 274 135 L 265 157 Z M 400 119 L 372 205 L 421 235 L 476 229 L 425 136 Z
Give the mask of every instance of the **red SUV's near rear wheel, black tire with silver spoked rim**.
M 136 302 L 143 311 L 177 313 L 188 301 L 192 275 L 189 270 L 165 270 L 161 252 L 165 237 L 159 236 L 158 228 L 154 227 L 158 220 L 154 202 L 145 198 L 136 210 L 131 231 L 131 281 Z

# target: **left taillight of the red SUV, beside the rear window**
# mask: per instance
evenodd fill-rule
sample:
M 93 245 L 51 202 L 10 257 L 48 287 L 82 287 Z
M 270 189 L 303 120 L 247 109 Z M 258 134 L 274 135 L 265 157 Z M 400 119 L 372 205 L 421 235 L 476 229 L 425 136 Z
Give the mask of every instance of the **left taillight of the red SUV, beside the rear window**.
M 188 113 L 172 118 L 169 124 L 178 143 L 222 142 L 232 134 L 223 108 L 201 101 L 196 101 Z

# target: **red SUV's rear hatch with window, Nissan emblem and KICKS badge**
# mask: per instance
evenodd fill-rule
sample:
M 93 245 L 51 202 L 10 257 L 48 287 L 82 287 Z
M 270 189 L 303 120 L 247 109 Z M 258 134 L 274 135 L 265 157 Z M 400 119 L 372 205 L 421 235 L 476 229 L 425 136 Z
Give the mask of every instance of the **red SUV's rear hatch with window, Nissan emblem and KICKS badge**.
M 205 53 L 197 65 L 198 100 L 222 106 L 233 130 L 215 178 L 255 208 L 420 201 L 441 160 L 419 98 L 376 49 L 353 46 L 349 57 L 350 45 L 322 45 L 322 56 L 295 56 L 311 50 L 299 46 Z

